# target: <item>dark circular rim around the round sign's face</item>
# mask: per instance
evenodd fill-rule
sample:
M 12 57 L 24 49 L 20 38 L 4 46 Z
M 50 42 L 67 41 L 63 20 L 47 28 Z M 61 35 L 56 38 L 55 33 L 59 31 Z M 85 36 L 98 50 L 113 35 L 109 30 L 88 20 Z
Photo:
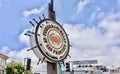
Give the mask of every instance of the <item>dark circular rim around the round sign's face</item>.
M 47 53 L 45 54 L 45 52 L 41 49 L 41 47 L 40 47 L 40 44 L 39 44 L 39 42 L 38 42 L 38 29 L 40 28 L 40 25 L 41 25 L 41 23 L 43 23 L 43 22 L 45 22 L 45 21 L 52 21 L 52 22 L 54 22 L 54 23 L 56 23 L 62 30 L 63 30 L 63 32 L 64 32 L 64 34 L 66 35 L 66 39 L 67 39 L 67 43 L 68 43 L 68 49 L 67 49 L 67 51 L 64 53 L 64 57 L 62 57 L 61 59 L 59 59 L 59 58 L 52 58 L 51 56 L 49 56 Z M 41 34 L 40 34 L 41 35 Z M 69 43 L 69 39 L 68 39 L 68 36 L 67 36 L 67 34 L 66 34 L 66 32 L 65 32 L 65 30 L 63 29 L 63 27 L 58 23 L 58 22 L 56 22 L 56 21 L 54 21 L 54 20 L 51 20 L 51 19 L 43 19 L 43 20 L 41 20 L 38 24 L 37 24 L 37 26 L 36 26 L 36 29 L 35 29 L 35 42 L 36 42 L 36 44 L 37 44 L 37 47 L 38 47 L 38 49 L 39 49 L 39 51 L 41 52 L 41 54 L 45 57 L 45 58 L 47 58 L 48 60 L 50 60 L 50 62 L 59 62 L 59 61 L 62 61 L 62 60 L 64 60 L 64 59 L 66 59 L 66 57 L 68 56 L 68 54 L 69 54 L 69 49 L 70 49 L 70 47 L 69 47 L 69 45 L 70 45 L 70 43 Z

